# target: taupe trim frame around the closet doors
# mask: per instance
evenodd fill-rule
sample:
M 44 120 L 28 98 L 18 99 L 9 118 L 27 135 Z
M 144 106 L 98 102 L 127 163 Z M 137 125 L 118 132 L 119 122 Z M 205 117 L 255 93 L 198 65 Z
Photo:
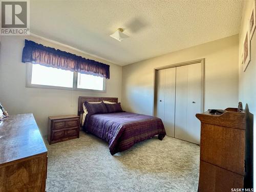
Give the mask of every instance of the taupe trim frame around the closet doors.
M 153 84 L 153 116 L 156 116 L 156 105 L 157 105 L 157 71 L 161 69 L 168 69 L 168 68 L 174 68 L 174 67 L 179 67 L 179 66 L 186 66 L 186 65 L 191 65 L 195 63 L 201 63 L 201 113 L 204 112 L 204 58 L 202 59 L 197 59 L 197 60 L 191 60 L 191 61 L 186 61 L 186 62 L 180 62 L 168 66 L 163 66 L 163 67 L 158 67 L 154 68 L 154 84 Z M 195 114 L 196 115 L 196 114 Z

